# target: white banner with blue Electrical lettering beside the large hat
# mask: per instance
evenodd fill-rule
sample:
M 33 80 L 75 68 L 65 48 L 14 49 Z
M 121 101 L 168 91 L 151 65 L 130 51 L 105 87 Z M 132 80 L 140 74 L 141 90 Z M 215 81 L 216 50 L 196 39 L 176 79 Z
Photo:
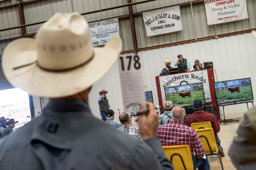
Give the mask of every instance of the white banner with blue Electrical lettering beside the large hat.
M 92 46 L 106 44 L 113 36 L 119 37 L 118 18 L 88 24 Z

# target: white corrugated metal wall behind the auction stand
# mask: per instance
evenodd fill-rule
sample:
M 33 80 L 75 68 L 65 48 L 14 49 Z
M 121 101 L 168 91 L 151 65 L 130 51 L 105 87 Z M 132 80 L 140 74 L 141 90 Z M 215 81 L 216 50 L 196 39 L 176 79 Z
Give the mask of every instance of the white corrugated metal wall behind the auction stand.
M 251 78 L 254 97 L 256 96 L 256 38 L 251 33 L 235 36 L 199 41 L 195 43 L 181 44 L 138 53 L 143 59 L 144 75 L 143 84 L 145 91 L 153 92 L 155 105 L 158 104 L 155 77 L 164 68 L 163 61 L 170 60 L 171 67 L 175 67 L 177 55 L 182 54 L 194 65 L 194 59 L 199 58 L 200 63 L 213 62 L 216 71 L 215 81 L 227 81 L 242 78 Z M 106 89 L 111 109 L 118 112 L 123 110 L 121 89 L 117 62 L 111 70 L 98 83 L 93 85 L 89 95 L 89 105 L 93 114 L 100 118 L 97 97 L 101 89 Z M 249 108 L 252 105 L 249 103 Z M 246 104 L 238 104 L 225 107 L 225 114 L 247 111 Z M 118 121 L 115 118 L 115 121 Z

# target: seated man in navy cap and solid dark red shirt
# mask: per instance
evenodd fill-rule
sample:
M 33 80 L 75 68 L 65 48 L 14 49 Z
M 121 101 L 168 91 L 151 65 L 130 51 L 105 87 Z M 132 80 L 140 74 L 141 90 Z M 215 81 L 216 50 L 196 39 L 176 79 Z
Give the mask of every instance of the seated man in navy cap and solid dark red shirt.
M 225 156 L 223 148 L 220 145 L 221 141 L 217 134 L 220 131 L 220 124 L 218 123 L 218 120 L 214 117 L 212 113 L 207 113 L 203 111 L 203 108 L 204 106 L 202 100 L 196 99 L 193 103 L 193 109 L 195 112 L 187 117 L 186 125 L 191 126 L 191 123 L 210 121 L 214 131 L 216 143 L 218 143 L 220 154 L 221 156 Z

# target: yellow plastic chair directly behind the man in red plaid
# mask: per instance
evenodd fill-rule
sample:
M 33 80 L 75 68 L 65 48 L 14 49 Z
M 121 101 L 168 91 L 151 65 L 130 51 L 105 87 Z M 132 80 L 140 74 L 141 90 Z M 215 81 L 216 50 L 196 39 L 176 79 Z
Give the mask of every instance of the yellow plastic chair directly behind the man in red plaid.
M 174 170 L 194 170 L 189 145 L 163 146 L 163 149 Z

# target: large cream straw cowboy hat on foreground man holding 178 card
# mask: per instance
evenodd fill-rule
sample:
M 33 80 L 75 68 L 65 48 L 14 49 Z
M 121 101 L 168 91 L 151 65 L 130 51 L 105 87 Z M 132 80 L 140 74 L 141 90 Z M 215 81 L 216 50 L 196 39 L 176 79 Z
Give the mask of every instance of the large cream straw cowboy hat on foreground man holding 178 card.
M 104 47 L 92 47 L 88 24 L 79 13 L 57 13 L 37 33 L 36 40 L 19 39 L 3 52 L 7 80 L 29 94 L 63 97 L 81 92 L 102 78 L 122 48 L 119 37 Z M 104 63 L 104 71 L 95 71 Z

